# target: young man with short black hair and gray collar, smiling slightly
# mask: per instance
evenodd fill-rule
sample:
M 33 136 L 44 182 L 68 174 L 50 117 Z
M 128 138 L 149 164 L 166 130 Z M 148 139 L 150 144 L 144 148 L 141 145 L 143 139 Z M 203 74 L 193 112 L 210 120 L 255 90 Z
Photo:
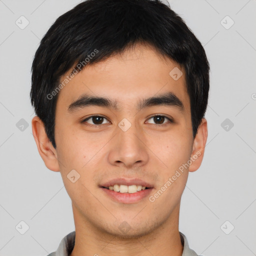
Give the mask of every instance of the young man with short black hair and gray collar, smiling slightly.
M 49 255 L 197 255 L 178 219 L 207 139 L 208 72 L 161 2 L 87 0 L 57 18 L 32 63 L 32 131 L 75 231 Z

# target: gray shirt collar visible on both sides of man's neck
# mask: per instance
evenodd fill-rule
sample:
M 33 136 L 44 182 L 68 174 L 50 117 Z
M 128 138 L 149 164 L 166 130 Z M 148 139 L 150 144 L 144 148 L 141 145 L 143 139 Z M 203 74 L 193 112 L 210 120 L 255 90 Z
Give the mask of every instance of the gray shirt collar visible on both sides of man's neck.
M 184 234 L 179 232 L 180 239 L 183 245 L 183 252 L 181 256 L 198 256 L 194 250 L 188 246 L 187 239 Z M 51 252 L 47 256 L 69 256 L 74 247 L 75 231 L 70 232 L 62 238 L 56 251 Z

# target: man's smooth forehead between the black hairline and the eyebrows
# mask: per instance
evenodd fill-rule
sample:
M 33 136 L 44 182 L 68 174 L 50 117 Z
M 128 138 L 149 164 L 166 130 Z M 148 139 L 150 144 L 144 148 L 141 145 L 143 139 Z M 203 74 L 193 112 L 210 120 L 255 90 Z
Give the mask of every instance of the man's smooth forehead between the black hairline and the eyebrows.
M 59 81 L 62 82 L 72 70 Z M 120 55 L 85 66 L 58 92 L 57 107 L 67 110 L 74 100 L 89 94 L 113 99 L 115 107 L 122 109 L 137 105 L 146 96 L 168 92 L 177 96 L 184 108 L 189 107 L 183 68 L 152 47 L 138 44 Z

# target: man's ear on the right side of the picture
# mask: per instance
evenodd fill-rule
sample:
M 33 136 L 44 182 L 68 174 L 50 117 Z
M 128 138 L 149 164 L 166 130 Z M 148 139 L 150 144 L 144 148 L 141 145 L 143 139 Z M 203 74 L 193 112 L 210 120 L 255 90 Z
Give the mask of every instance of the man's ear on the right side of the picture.
M 193 149 L 190 156 L 191 164 L 189 165 L 189 171 L 195 171 L 200 167 L 204 154 L 204 147 L 206 144 L 207 136 L 207 121 L 205 118 L 202 118 L 193 141 Z

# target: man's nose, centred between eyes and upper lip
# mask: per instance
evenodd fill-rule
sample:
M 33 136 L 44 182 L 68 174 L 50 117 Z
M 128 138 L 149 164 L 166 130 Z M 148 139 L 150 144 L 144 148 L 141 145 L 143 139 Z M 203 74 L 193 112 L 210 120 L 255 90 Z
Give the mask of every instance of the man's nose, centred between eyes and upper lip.
M 120 126 L 121 127 L 121 126 Z M 116 128 L 117 134 L 111 139 L 108 161 L 120 167 L 138 167 L 147 163 L 149 155 L 146 138 L 134 124 L 125 130 Z

